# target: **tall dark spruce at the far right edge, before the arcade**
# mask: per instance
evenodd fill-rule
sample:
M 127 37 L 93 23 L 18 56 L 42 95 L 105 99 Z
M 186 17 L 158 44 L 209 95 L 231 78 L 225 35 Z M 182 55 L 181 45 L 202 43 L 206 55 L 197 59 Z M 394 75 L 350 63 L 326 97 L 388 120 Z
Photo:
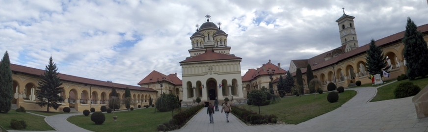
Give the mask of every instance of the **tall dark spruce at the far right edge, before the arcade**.
M 407 66 L 407 77 L 415 79 L 428 75 L 428 48 L 421 31 L 410 17 L 407 17 L 406 30 L 402 39 L 404 43 L 404 59 Z

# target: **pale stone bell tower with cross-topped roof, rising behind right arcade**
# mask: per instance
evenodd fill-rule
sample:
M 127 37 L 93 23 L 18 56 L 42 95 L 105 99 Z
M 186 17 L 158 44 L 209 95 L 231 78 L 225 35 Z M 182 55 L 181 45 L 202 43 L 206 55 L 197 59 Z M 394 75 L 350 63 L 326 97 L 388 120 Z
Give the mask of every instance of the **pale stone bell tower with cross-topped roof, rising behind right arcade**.
M 336 20 L 339 26 L 340 42 L 342 46 L 346 46 L 344 52 L 349 52 L 353 49 L 358 48 L 357 32 L 355 30 L 354 18 L 345 14 L 345 8 L 343 8 L 343 15 Z

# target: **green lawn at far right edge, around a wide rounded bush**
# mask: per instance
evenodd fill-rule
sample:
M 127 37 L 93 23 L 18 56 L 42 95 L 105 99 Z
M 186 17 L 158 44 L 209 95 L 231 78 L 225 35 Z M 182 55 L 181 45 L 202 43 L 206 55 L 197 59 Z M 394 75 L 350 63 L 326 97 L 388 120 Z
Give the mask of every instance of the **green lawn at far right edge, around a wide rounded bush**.
M 413 82 L 413 84 L 418 85 L 421 89 L 423 89 L 425 86 L 428 85 L 428 78 L 415 79 L 415 80 L 405 79 L 405 80 L 397 81 L 397 82 L 377 88 L 376 96 L 370 102 L 396 99 L 394 95 L 394 89 L 400 83 L 407 82 L 407 81 Z

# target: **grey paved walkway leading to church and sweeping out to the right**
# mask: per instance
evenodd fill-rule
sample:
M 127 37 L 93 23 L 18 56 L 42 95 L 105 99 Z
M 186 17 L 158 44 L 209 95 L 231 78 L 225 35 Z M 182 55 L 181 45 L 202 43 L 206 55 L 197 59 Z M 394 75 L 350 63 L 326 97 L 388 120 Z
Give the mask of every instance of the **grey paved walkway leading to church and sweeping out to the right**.
M 355 90 L 357 95 L 341 107 L 297 125 L 247 126 L 231 114 L 227 123 L 220 112 L 210 124 L 204 107 L 176 132 L 428 132 L 428 118 L 417 118 L 413 97 L 369 102 L 376 88 L 347 90 Z

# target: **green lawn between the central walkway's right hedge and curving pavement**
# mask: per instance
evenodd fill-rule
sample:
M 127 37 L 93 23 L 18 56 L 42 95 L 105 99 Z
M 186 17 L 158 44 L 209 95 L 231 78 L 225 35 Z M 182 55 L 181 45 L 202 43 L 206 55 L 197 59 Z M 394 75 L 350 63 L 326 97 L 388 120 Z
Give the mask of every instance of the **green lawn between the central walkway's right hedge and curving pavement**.
M 281 98 L 279 103 L 260 106 L 260 112 L 261 114 L 274 114 L 278 116 L 279 121 L 287 124 L 299 124 L 342 106 L 354 97 L 357 92 L 346 90 L 344 93 L 339 93 L 339 101 L 336 103 L 329 103 L 327 94 L 317 94 L 317 99 L 315 99 L 315 95 L 284 97 Z M 259 112 L 258 106 L 242 106 L 257 113 Z

